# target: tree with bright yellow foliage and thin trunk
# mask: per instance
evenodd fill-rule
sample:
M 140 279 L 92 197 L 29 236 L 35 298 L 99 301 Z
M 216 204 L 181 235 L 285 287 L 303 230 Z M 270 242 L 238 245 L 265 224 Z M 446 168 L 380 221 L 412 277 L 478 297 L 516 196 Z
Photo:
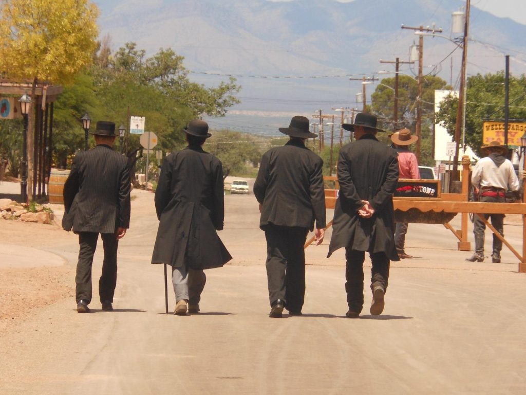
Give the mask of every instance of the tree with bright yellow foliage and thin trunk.
M 0 0 L 0 75 L 68 84 L 92 62 L 98 8 L 88 0 Z M 28 117 L 28 192 L 33 172 L 33 111 Z M 31 199 L 31 194 L 29 195 Z

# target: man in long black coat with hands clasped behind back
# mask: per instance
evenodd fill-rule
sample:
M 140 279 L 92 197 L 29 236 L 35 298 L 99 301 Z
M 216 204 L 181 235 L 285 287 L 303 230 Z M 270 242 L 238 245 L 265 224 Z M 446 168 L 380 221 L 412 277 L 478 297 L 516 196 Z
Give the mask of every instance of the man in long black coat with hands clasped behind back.
M 399 260 L 392 203 L 398 182 L 397 153 L 376 139 L 377 131 L 381 131 L 376 121 L 376 116 L 359 113 L 355 123 L 343 124 L 344 129 L 354 132 L 356 141 L 341 148 L 338 160 L 340 191 L 328 256 L 345 247 L 349 318 L 358 318 L 363 307 L 365 251 L 372 261 L 373 315 L 383 311 L 389 260 Z

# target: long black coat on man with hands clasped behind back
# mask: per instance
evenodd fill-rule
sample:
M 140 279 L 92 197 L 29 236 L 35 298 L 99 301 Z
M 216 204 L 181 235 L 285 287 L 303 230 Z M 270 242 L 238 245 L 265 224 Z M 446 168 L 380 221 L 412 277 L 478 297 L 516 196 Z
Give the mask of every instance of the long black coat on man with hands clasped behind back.
M 398 182 L 397 153 L 372 134 L 343 146 L 338 159 L 340 191 L 336 201 L 330 256 L 342 247 L 372 253 L 385 252 L 398 261 L 392 196 Z M 358 210 L 367 200 L 375 209 L 371 218 Z

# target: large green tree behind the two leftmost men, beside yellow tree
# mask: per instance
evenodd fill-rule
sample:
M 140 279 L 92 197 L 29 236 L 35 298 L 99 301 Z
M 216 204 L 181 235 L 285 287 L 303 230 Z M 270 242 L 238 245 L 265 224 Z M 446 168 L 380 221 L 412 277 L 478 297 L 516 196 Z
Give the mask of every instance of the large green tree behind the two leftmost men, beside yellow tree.
M 107 40 L 100 44 L 92 67 L 101 116 L 121 120 L 116 122 L 126 127 L 128 114 L 145 116 L 146 130 L 155 132 L 167 151 L 184 144 L 182 130 L 189 120 L 203 114 L 224 116 L 228 107 L 239 103 L 235 94 L 240 86 L 233 78 L 213 88 L 191 83 L 183 56 L 170 48 L 148 58 L 135 43 L 126 43 L 113 56 L 105 48 Z M 138 146 L 138 136 L 129 136 L 126 151 Z

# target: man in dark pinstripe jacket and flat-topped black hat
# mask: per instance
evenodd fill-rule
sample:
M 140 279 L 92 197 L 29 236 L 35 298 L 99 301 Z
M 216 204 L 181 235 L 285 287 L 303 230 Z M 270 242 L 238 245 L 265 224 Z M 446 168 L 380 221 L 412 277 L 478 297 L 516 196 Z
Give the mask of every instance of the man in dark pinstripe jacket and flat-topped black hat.
M 76 282 L 77 312 L 88 313 L 92 300 L 92 263 L 98 234 L 103 241 L 104 261 L 99 280 L 102 309 L 113 310 L 117 284 L 118 240 L 130 222 L 130 175 L 128 161 L 112 150 L 115 124 L 97 122 L 95 148 L 75 155 L 64 184 L 62 226 L 78 234 Z

